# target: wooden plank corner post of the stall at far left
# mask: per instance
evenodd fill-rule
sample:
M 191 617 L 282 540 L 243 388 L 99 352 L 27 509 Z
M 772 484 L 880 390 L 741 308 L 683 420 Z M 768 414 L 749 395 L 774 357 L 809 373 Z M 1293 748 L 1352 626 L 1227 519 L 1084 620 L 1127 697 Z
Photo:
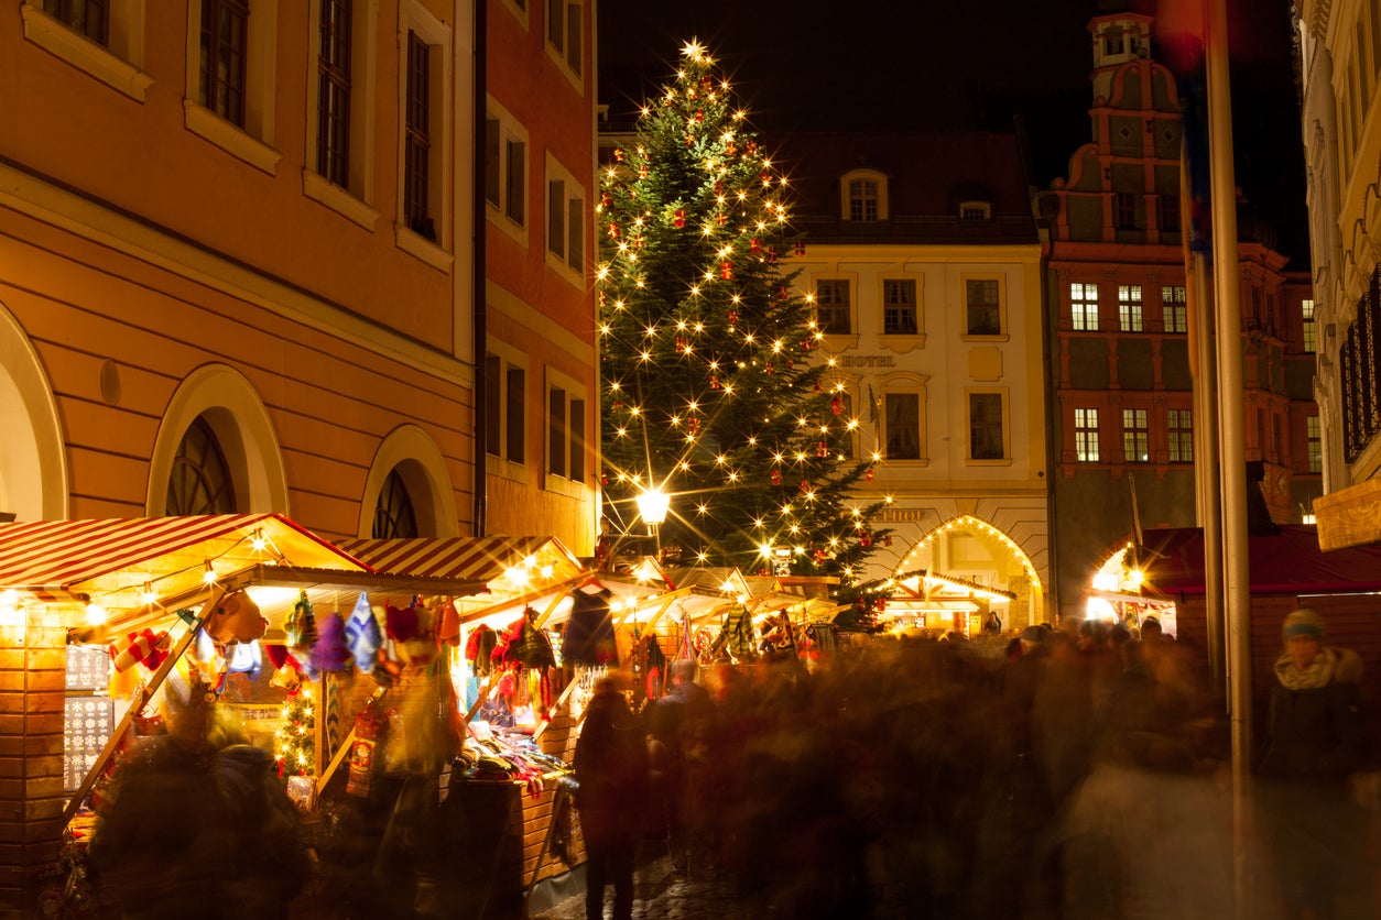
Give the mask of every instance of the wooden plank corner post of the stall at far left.
M 0 641 L 0 913 L 29 916 L 62 840 L 66 629 L 35 623 Z

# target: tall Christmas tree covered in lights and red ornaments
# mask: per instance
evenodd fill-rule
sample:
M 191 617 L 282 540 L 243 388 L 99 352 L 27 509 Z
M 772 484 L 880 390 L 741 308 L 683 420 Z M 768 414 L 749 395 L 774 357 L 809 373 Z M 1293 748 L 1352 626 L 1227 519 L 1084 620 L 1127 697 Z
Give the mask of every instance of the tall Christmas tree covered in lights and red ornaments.
M 601 174 L 597 301 L 606 510 L 670 497 L 661 546 L 686 564 L 837 575 L 884 531 L 851 488 L 858 418 L 809 298 L 789 177 L 696 41 Z

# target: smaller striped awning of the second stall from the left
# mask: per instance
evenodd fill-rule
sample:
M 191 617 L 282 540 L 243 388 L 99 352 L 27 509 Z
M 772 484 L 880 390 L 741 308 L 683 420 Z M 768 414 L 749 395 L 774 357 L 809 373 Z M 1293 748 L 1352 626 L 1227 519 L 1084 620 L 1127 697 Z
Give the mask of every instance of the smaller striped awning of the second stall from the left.
M 479 581 L 496 592 L 522 592 L 584 574 L 580 559 L 555 537 L 358 538 L 336 545 L 378 572 Z

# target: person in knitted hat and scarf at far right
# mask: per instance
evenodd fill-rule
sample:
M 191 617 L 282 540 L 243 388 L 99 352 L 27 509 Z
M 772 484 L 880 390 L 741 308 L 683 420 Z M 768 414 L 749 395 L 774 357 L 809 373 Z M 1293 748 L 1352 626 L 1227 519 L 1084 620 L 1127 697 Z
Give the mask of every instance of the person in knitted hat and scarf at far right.
M 1324 644 L 1308 607 L 1284 621 L 1265 748 L 1257 764 L 1265 828 L 1290 917 L 1356 916 L 1364 812 L 1348 778 L 1362 767 L 1362 659 Z

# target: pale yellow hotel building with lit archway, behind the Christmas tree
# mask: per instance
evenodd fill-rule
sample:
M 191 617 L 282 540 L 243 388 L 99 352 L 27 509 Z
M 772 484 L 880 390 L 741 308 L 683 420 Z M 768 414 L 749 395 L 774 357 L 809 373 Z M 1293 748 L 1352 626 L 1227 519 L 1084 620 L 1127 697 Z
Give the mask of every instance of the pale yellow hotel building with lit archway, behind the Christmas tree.
M 780 143 L 779 143 L 780 141 Z M 862 502 L 894 534 L 862 581 L 889 619 L 974 633 L 1048 618 L 1051 577 L 1040 241 L 1018 138 L 987 132 L 768 138 L 795 189 L 820 360 L 873 458 Z

